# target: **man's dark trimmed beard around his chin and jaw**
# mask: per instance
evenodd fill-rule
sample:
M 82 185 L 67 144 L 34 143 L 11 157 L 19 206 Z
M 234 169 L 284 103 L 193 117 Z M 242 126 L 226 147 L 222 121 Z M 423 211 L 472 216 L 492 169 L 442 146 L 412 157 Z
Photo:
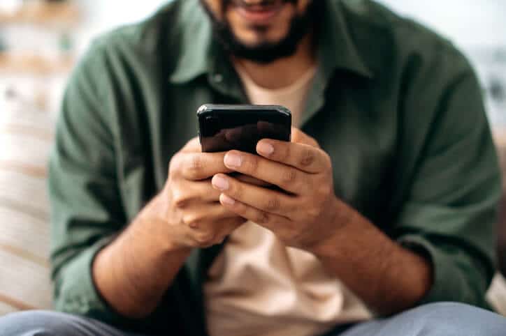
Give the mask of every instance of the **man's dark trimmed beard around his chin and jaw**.
M 224 1 L 224 12 L 226 8 L 234 0 Z M 296 5 L 298 0 L 284 0 L 284 2 L 294 3 Z M 270 1 L 266 1 L 268 3 Z M 313 0 L 309 3 L 305 13 L 302 15 L 296 15 L 290 22 L 289 31 L 287 36 L 276 43 L 263 42 L 258 45 L 246 45 L 241 42 L 232 31 L 232 27 L 229 22 L 224 19 L 223 21 L 218 20 L 212 13 L 205 1 L 201 0 L 202 6 L 212 22 L 212 30 L 215 38 L 224 47 L 224 49 L 238 57 L 239 59 L 247 59 L 256 63 L 270 63 L 277 59 L 292 56 L 297 51 L 297 47 L 303 37 L 315 28 L 317 22 L 316 18 L 321 11 L 321 3 L 323 0 Z M 222 17 L 225 17 L 225 13 L 222 13 Z M 260 29 L 260 28 L 259 28 Z

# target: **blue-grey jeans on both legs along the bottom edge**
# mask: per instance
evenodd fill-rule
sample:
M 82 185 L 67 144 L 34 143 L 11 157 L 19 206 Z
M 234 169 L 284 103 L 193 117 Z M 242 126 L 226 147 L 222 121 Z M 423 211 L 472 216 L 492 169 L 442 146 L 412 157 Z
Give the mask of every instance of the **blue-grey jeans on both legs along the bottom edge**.
M 68 335 L 137 336 L 99 321 L 59 312 L 20 312 L 0 318 L 0 336 Z M 335 336 L 481 335 L 506 335 L 506 318 L 460 303 L 433 303 L 407 310 L 389 319 L 357 323 Z

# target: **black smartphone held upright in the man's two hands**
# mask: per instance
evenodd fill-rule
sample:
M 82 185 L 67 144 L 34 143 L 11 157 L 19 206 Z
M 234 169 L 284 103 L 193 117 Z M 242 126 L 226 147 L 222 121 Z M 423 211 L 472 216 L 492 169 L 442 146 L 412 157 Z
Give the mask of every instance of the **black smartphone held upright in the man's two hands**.
M 290 141 L 291 112 L 279 105 L 202 105 L 197 111 L 203 152 L 256 154 L 261 139 Z

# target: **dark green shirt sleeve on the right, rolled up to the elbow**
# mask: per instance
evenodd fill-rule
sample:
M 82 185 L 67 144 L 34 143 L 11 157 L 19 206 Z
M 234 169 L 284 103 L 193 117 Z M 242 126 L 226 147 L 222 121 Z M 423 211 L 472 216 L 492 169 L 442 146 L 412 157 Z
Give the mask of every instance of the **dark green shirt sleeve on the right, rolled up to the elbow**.
M 431 72 L 415 85 L 408 105 L 417 111 L 438 97 L 394 236 L 433 264 L 433 287 L 421 303 L 488 307 L 501 194 L 496 150 L 479 83 L 463 56 L 451 53 Z M 437 94 L 424 96 L 431 90 Z

